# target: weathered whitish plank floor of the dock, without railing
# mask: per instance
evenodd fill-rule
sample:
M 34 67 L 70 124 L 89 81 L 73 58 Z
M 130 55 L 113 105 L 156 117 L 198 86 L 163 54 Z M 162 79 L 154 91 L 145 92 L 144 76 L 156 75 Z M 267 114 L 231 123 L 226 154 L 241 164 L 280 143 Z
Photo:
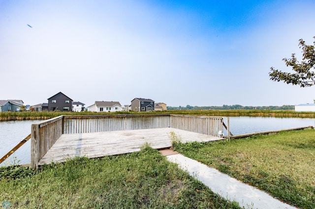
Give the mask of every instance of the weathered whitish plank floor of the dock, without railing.
M 145 143 L 154 149 L 169 148 L 171 147 L 169 138 L 171 131 L 180 136 L 184 143 L 224 139 L 173 128 L 62 134 L 40 159 L 38 165 L 49 164 L 52 161 L 62 162 L 76 156 L 94 158 L 137 152 Z

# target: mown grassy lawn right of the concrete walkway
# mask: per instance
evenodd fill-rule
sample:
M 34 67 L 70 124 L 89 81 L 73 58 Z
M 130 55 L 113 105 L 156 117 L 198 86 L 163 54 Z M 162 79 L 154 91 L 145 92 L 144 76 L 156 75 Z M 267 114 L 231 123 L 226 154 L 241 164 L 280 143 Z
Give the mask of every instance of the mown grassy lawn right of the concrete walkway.
M 290 205 L 315 208 L 315 130 L 179 143 L 175 150 Z

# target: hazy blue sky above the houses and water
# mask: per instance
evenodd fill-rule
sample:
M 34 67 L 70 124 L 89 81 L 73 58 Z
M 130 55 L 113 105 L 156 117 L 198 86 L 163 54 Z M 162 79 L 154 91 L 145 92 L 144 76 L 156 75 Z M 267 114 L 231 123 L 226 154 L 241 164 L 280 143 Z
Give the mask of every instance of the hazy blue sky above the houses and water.
M 313 103 L 269 80 L 313 44 L 314 0 L 0 0 L 0 99 L 89 106 Z M 32 27 L 30 27 L 30 26 Z

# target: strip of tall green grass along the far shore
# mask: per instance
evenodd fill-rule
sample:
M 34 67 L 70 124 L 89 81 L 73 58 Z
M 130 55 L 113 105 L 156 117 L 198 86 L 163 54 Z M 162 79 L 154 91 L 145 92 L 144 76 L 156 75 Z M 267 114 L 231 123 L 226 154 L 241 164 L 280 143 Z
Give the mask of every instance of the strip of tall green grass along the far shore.
M 209 116 L 263 116 L 263 117 L 300 117 L 315 118 L 315 112 L 295 112 L 294 110 L 166 110 L 151 112 L 0 112 L 0 121 L 6 120 L 45 120 L 60 115 L 117 115 L 117 114 L 181 114 Z

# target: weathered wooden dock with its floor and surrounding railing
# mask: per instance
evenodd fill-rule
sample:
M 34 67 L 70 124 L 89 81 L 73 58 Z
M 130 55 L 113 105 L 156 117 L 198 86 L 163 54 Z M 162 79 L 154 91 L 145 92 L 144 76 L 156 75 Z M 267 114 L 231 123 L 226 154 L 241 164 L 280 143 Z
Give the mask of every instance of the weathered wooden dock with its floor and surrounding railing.
M 225 120 L 225 123 L 223 122 Z M 229 118 L 202 115 L 63 115 L 32 124 L 31 167 L 76 156 L 103 157 L 171 146 L 173 131 L 182 142 L 224 139 Z M 227 134 L 229 139 L 230 134 Z

